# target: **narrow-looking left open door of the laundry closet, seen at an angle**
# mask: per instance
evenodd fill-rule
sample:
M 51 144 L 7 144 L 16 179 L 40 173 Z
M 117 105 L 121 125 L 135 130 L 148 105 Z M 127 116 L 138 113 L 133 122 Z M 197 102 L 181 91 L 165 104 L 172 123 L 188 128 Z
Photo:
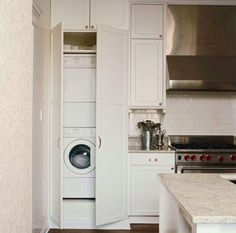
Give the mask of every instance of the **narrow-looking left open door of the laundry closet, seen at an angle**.
M 61 150 L 62 150 L 62 72 L 63 30 L 51 31 L 51 98 L 50 98 L 50 219 L 61 225 Z

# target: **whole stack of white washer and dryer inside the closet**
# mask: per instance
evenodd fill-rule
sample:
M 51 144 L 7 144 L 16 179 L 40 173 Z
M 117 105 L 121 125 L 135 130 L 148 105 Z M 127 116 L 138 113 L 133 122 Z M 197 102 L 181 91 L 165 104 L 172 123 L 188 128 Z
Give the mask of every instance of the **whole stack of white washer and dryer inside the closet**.
M 96 55 L 64 55 L 63 198 L 95 198 Z

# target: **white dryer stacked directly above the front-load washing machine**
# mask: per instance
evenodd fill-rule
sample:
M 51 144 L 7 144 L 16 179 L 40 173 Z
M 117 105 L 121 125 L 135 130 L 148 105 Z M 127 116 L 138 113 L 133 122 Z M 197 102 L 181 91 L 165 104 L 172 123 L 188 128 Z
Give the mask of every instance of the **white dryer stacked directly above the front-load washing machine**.
M 64 56 L 64 127 L 95 127 L 96 55 Z

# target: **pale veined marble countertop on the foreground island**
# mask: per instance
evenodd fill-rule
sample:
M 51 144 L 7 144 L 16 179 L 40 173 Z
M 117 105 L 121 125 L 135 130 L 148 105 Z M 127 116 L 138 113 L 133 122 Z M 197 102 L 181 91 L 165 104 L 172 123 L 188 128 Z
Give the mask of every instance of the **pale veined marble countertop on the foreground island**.
M 185 216 L 193 223 L 236 223 L 236 174 L 160 174 Z M 223 178 L 224 177 L 224 178 Z

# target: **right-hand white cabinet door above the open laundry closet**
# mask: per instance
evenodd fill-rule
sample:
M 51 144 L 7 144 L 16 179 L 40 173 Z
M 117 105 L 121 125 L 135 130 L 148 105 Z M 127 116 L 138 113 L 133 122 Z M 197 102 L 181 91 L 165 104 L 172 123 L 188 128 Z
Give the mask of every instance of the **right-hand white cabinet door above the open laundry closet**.
M 91 27 L 128 29 L 129 0 L 91 0 Z

